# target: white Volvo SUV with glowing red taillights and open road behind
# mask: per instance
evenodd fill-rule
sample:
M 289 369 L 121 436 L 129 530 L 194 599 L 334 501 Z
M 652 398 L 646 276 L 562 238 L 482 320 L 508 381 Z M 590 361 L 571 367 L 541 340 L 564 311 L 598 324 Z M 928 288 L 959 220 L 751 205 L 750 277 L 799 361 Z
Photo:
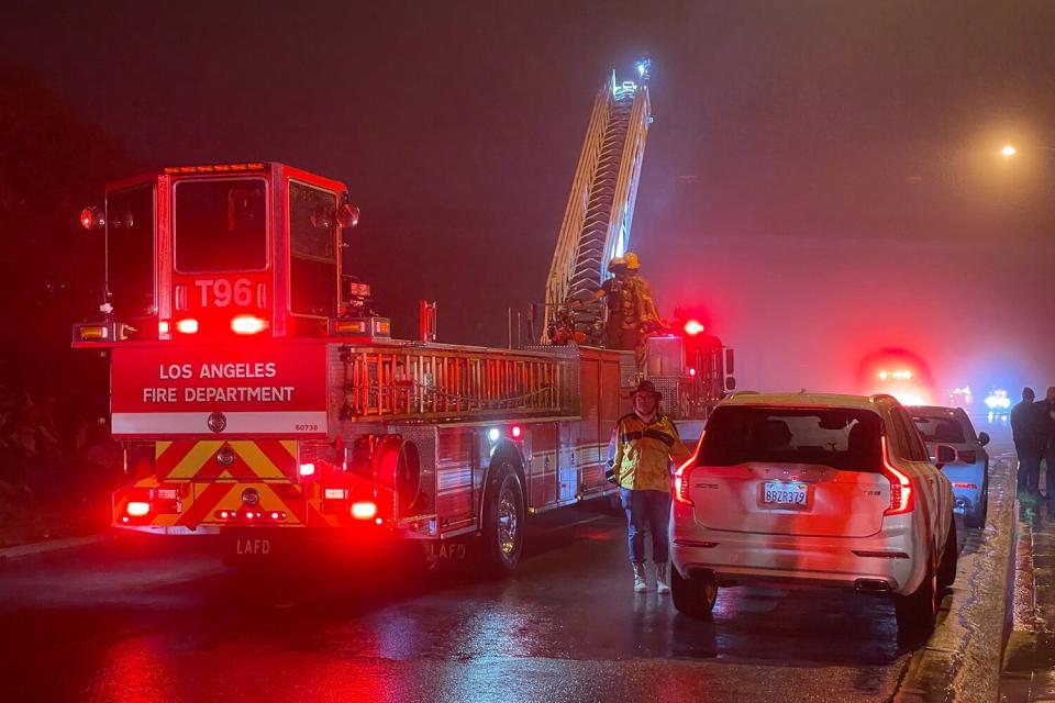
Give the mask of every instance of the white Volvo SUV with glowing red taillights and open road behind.
M 952 486 L 891 395 L 736 394 L 674 499 L 687 615 L 708 615 L 720 585 L 797 583 L 890 594 L 899 627 L 929 629 L 956 578 Z

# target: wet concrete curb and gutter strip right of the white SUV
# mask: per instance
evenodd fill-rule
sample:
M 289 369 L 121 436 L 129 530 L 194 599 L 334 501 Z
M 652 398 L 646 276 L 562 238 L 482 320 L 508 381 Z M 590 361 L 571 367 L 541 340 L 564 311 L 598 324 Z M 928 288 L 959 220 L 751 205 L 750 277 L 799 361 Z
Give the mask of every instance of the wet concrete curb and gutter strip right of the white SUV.
M 1013 465 L 1013 458 L 1001 457 L 990 469 L 985 532 L 964 545 L 951 604 L 946 596 L 948 612 L 912 655 L 895 701 L 1000 700 L 1019 539 Z

